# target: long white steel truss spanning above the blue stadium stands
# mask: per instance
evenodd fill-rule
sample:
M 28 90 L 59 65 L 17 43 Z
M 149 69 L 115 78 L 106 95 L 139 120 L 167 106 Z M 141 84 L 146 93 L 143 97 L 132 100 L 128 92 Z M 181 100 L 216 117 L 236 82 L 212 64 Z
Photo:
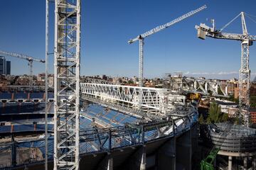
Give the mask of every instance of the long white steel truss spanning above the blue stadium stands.
M 169 89 L 90 83 L 82 83 L 80 86 L 82 98 L 86 100 L 103 103 L 120 111 L 126 110 L 125 112 L 131 111 L 124 109 L 124 107 L 139 110 L 136 112 L 138 115 L 150 120 L 154 119 L 154 116 L 150 115 L 151 113 L 165 116 L 173 113 L 177 106 L 186 106 L 186 97 L 171 94 Z M 142 91 L 142 109 L 139 108 L 140 91 Z M 93 100 L 93 98 L 97 100 Z M 114 103 L 114 106 L 110 103 Z

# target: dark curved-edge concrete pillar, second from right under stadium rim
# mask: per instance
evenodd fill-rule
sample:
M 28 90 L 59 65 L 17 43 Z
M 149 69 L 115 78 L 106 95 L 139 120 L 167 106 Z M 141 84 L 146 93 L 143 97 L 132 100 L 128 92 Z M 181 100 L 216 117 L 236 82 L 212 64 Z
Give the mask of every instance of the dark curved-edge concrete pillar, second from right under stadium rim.
M 176 169 L 176 137 L 172 137 L 156 152 L 156 166 L 158 170 Z

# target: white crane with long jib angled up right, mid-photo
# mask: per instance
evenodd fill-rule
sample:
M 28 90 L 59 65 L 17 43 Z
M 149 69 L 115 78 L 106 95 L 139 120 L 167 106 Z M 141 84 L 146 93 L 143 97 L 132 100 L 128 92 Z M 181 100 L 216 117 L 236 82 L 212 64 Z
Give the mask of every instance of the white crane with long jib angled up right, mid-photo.
M 201 6 L 200 8 L 197 8 L 194 11 L 190 11 L 190 12 L 184 14 L 183 16 L 180 16 L 180 17 L 174 19 L 173 21 L 171 21 L 169 23 L 166 23 L 166 24 L 161 25 L 161 26 L 157 26 L 156 28 L 153 28 L 153 29 L 147 31 L 146 33 L 140 34 L 136 38 L 133 38 L 133 39 L 128 41 L 129 44 L 132 44 L 132 42 L 135 42 L 135 41 L 139 40 L 139 86 L 143 86 L 142 79 L 143 79 L 143 57 L 144 57 L 143 56 L 143 45 L 144 45 L 144 38 L 146 38 L 149 35 L 152 35 L 154 33 L 157 33 L 160 30 L 164 30 L 165 28 L 169 28 L 170 26 L 174 25 L 175 23 L 183 21 L 183 19 L 186 19 L 190 16 L 193 16 L 194 14 L 198 13 L 199 11 L 202 11 L 205 8 L 207 8 L 206 5 Z M 142 95 L 140 94 L 139 105 L 141 103 L 142 103 Z

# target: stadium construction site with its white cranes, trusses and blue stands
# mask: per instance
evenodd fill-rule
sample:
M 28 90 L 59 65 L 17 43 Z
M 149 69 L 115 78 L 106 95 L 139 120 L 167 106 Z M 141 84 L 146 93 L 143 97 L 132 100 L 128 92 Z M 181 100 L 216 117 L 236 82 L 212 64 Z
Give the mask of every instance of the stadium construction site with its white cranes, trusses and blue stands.
M 49 3 L 55 6 L 51 15 Z M 129 86 L 81 78 L 81 3 L 46 0 L 45 60 L 0 50 L 0 55 L 26 60 L 30 71 L 25 85 L 18 85 L 14 78 L 0 91 L 0 169 L 256 169 L 249 68 L 249 47 L 256 35 L 247 31 L 247 13 L 239 13 L 220 29 L 215 28 L 214 19 L 212 26 L 195 23 L 195 36 L 202 40 L 241 43 L 236 123 L 199 125 L 198 106 L 203 98 L 230 98 L 228 84 L 177 72 L 166 77 L 161 88 L 146 87 L 144 45 L 149 36 L 206 12 L 207 6 L 128 40 L 128 44 L 139 44 L 139 83 Z M 49 26 L 53 15 L 54 26 Z M 224 33 L 238 18 L 242 33 Z M 49 28 L 54 28 L 54 52 L 48 50 Z M 45 86 L 33 79 L 33 62 L 45 65 Z M 52 86 L 47 81 L 50 64 Z

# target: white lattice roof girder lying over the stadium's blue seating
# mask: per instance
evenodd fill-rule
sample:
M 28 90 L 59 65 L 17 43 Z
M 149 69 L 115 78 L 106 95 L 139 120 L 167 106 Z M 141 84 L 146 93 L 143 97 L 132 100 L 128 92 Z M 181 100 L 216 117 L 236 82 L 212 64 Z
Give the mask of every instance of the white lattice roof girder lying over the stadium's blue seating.
M 144 108 L 158 111 L 160 114 L 165 113 L 168 100 L 176 99 L 164 98 L 168 93 L 167 89 L 146 88 L 137 86 L 122 86 L 113 84 L 80 84 L 82 94 L 95 96 L 102 101 L 115 101 L 129 103 L 132 108 L 138 109 L 140 106 L 139 97 L 142 94 L 142 104 Z M 142 93 L 140 93 L 142 91 Z M 167 97 L 167 96 L 166 96 Z M 176 95 L 177 98 L 183 96 Z

